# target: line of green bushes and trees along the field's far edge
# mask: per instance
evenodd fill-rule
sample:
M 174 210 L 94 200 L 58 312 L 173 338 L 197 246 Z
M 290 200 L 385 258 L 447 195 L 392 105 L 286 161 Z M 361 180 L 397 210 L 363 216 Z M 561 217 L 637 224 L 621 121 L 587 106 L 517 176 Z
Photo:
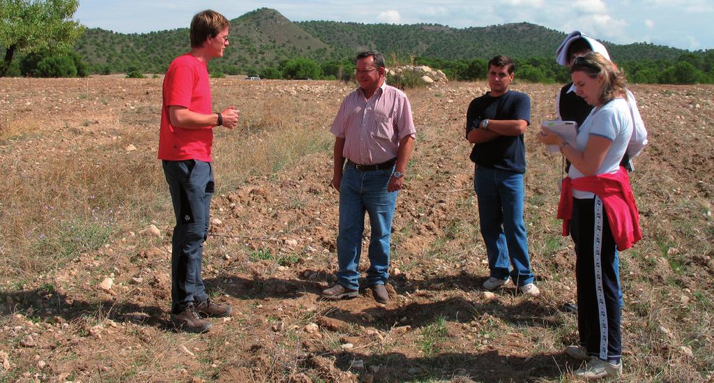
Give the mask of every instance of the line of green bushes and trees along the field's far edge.
M 391 62 L 389 62 L 391 61 Z M 570 81 L 568 71 L 555 63 L 553 58 L 515 59 L 516 79 L 538 83 L 564 83 Z M 18 63 L 18 61 L 15 61 Z M 411 57 L 407 63 L 397 62 L 395 56 L 388 59 L 387 66 L 399 64 L 426 65 L 441 69 L 448 79 L 473 81 L 486 79 L 488 59 L 446 60 L 433 57 Z M 164 73 L 170 59 L 159 66 L 142 65 L 139 61 L 127 64 L 87 64 L 74 51 L 39 51 L 27 54 L 18 64 L 11 66 L 8 76 L 31 77 L 82 77 L 89 74 L 127 74 L 139 77 L 142 73 Z M 624 69 L 630 83 L 639 84 L 714 84 L 714 52 L 705 55 L 682 54 L 676 60 L 629 60 L 617 62 Z M 306 57 L 284 59 L 276 66 L 233 66 L 214 60 L 208 66 L 213 78 L 243 74 L 260 76 L 263 79 L 328 79 L 349 81 L 353 79 L 355 66 L 351 58 L 341 61 L 318 62 Z

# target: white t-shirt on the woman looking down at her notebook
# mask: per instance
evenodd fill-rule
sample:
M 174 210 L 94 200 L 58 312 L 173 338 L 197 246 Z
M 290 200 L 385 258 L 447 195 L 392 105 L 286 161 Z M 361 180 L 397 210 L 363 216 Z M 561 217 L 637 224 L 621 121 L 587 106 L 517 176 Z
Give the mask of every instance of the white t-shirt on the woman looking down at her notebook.
M 583 121 L 583 125 L 578 129 L 578 136 L 575 137 L 575 149 L 584 152 L 588 145 L 590 136 L 601 136 L 613 141 L 610 145 L 603 163 L 600 164 L 595 174 L 613 174 L 620 169 L 620 161 L 625 155 L 630 137 L 633 132 L 632 114 L 627 101 L 623 98 L 613 99 L 607 104 L 594 108 L 588 117 Z M 568 171 L 570 179 L 585 176 L 575 166 L 570 166 Z M 573 188 L 575 198 L 593 198 L 595 194 L 588 191 L 579 191 Z

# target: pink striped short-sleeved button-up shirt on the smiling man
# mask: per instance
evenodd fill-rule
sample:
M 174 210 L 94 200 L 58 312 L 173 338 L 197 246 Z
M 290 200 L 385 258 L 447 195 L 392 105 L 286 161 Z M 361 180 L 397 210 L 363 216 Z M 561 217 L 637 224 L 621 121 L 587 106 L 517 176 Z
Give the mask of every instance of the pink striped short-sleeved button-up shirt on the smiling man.
M 369 99 L 362 89 L 348 94 L 330 131 L 345 139 L 343 156 L 361 165 L 393 159 L 399 141 L 416 135 L 409 99 L 403 91 L 387 84 L 382 84 Z

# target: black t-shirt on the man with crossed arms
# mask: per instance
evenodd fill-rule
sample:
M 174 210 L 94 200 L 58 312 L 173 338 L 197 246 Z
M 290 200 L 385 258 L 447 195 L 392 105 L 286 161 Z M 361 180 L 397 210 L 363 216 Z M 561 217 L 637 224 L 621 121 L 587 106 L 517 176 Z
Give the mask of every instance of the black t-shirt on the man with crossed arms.
M 531 99 L 528 94 L 519 91 L 507 91 L 498 97 L 492 97 L 489 92 L 473 99 L 466 112 L 466 136 L 471 130 L 477 129 L 483 119 L 522 119 L 531 124 Z M 474 145 L 471 161 L 491 169 L 525 173 L 526 145 L 523 144 L 523 134 L 498 136 Z

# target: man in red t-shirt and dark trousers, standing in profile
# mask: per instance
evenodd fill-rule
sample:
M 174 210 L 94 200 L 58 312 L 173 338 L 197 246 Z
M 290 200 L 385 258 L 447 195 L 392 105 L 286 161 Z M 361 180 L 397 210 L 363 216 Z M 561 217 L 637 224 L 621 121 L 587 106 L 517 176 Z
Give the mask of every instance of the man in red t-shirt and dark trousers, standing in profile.
M 213 197 L 211 145 L 213 126 L 233 129 L 238 113 L 233 106 L 212 111 L 208 61 L 223 57 L 228 46 L 228 19 L 206 10 L 191 21 L 191 51 L 176 57 L 164 77 L 159 159 L 169 184 L 176 227 L 171 244 L 171 322 L 176 329 L 206 332 L 203 317 L 226 317 L 231 307 L 208 299 L 201 260 L 208 236 Z

